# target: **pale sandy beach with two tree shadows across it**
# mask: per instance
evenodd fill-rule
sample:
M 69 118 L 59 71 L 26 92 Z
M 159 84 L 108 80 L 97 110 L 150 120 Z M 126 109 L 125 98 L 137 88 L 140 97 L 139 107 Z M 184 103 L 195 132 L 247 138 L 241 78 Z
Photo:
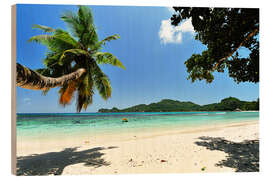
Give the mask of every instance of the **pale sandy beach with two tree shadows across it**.
M 43 141 L 18 139 L 18 173 L 247 172 L 259 167 L 258 121 Z

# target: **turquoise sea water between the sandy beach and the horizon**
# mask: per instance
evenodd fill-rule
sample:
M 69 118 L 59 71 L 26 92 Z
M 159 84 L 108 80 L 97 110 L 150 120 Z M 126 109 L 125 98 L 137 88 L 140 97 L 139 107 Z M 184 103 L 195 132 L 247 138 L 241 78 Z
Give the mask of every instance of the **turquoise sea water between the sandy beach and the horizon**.
M 128 122 L 122 122 L 127 118 Z M 259 119 L 259 112 L 32 113 L 17 114 L 18 136 L 145 131 Z

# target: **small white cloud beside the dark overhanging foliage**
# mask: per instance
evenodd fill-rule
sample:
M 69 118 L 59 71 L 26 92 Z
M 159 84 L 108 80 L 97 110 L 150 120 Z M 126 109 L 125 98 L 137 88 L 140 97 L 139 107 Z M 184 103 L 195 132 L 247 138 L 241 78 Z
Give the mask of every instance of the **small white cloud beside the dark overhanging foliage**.
M 192 36 L 194 35 L 191 19 L 184 21 L 179 26 L 171 25 L 170 19 L 161 21 L 159 38 L 162 43 L 182 43 L 184 33 L 189 33 L 189 35 Z

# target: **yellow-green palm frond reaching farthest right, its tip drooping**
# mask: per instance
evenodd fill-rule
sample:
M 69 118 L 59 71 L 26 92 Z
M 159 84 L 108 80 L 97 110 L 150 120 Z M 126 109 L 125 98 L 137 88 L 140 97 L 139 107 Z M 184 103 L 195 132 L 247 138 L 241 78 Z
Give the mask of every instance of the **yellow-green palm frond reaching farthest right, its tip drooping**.
M 94 56 L 96 57 L 96 62 L 98 64 L 111 64 L 126 70 L 126 67 L 122 62 L 109 52 L 97 52 Z

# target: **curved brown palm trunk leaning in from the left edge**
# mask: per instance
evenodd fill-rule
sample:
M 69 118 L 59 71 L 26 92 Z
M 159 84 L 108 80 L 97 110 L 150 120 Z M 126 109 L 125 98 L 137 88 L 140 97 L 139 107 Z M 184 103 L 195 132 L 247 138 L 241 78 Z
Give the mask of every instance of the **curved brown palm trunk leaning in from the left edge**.
M 80 68 L 73 73 L 58 78 L 52 78 L 45 77 L 38 72 L 17 63 L 16 86 L 32 90 L 47 90 L 49 88 L 62 86 L 65 83 L 76 80 L 85 72 L 85 69 Z

